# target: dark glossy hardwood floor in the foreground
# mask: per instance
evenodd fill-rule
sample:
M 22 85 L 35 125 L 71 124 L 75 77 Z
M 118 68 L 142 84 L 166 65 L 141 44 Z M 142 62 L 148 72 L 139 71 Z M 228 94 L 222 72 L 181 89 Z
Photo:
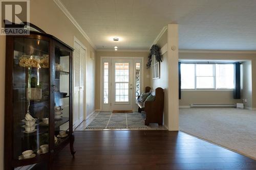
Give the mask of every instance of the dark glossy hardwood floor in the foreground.
M 182 132 L 76 131 L 53 169 L 256 169 L 256 161 Z

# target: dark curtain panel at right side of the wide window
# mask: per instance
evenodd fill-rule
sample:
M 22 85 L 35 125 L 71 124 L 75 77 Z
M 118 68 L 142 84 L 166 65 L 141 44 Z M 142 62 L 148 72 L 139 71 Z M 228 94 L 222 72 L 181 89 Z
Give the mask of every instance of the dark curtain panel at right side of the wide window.
M 234 99 L 241 99 L 240 65 L 239 62 L 234 63 Z

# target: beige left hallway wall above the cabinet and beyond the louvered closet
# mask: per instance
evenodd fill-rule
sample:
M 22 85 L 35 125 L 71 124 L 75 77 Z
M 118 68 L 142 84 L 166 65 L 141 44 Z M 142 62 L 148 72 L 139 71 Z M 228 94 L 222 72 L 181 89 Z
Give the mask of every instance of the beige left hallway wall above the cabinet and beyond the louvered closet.
M 38 12 L 44 11 L 44 12 Z M 30 1 L 30 21 L 48 34 L 52 34 L 70 46 L 74 46 L 74 36 L 87 48 L 86 108 L 87 115 L 95 110 L 95 60 L 91 60 L 91 52 L 95 50 L 82 36 L 68 17 L 51 0 Z

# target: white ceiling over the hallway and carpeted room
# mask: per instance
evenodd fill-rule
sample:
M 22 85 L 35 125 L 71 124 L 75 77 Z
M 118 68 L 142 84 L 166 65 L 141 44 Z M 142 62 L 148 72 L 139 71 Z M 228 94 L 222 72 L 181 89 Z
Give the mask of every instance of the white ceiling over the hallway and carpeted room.
M 148 50 L 179 24 L 179 48 L 256 50 L 256 0 L 61 0 L 97 49 Z M 120 37 L 117 43 L 110 37 Z M 103 47 L 104 46 L 104 47 Z

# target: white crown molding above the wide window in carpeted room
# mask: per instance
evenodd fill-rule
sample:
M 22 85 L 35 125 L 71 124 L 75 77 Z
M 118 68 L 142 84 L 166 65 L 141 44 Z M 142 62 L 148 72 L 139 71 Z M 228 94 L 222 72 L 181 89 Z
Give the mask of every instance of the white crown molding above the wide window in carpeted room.
M 179 50 L 179 53 L 208 53 L 208 54 L 256 54 L 256 51 L 226 51 L 226 50 Z

